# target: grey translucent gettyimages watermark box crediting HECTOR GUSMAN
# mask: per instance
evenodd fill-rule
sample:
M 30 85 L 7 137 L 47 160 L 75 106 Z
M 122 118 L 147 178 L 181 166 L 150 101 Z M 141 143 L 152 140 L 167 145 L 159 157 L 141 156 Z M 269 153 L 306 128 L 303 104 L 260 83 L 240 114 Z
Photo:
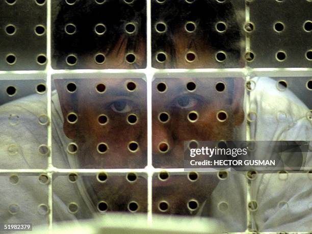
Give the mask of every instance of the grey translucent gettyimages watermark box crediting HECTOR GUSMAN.
M 312 165 L 308 141 L 187 141 L 186 171 L 305 170 Z

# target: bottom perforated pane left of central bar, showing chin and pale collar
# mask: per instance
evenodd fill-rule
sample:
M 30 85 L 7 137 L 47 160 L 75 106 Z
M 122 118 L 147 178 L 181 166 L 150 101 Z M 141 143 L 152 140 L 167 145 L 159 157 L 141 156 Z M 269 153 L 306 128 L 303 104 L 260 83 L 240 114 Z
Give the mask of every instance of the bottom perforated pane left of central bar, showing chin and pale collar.
M 147 212 L 145 173 L 55 174 L 53 183 L 55 222 L 107 212 Z

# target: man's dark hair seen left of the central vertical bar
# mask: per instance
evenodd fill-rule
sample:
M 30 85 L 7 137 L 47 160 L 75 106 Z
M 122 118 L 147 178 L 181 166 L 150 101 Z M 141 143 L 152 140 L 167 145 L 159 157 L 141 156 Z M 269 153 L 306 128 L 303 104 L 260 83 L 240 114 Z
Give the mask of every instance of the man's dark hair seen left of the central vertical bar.
M 73 5 L 67 4 L 65 0 L 58 0 L 53 1 L 52 8 L 53 57 L 58 68 L 67 67 L 65 59 L 71 53 L 84 57 L 100 50 L 108 56 L 113 49 L 120 49 L 115 48 L 120 39 L 126 43 L 126 51 L 120 53 L 136 50 L 139 38 L 145 43 L 145 0 L 134 0 L 130 4 L 124 0 L 106 0 L 103 4 L 98 4 L 95 0 L 76 0 Z M 124 26 L 127 22 L 136 22 L 134 34 L 125 33 Z M 66 34 L 64 28 L 67 23 L 76 25 L 74 35 Z M 107 29 L 102 36 L 94 32 L 98 23 L 105 24 Z

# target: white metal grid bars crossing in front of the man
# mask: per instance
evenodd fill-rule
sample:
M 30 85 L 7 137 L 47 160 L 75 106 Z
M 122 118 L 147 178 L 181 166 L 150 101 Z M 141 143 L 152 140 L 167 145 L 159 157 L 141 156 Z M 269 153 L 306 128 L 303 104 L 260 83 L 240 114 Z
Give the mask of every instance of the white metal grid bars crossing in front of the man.
M 245 2 L 245 14 L 246 14 L 246 22 L 249 22 L 250 14 L 249 14 L 249 0 Z M 106 74 L 106 73 L 144 73 L 146 75 L 147 82 L 147 143 L 148 143 L 148 151 L 147 151 L 147 166 L 143 169 L 105 169 L 107 173 L 127 173 L 127 172 L 145 172 L 147 173 L 147 221 L 148 223 L 152 222 L 152 176 L 153 173 L 158 173 L 163 170 L 167 172 L 184 172 L 184 168 L 169 168 L 169 169 L 161 169 L 154 168 L 152 166 L 152 139 L 151 139 L 151 131 L 152 131 L 152 116 L 151 116 L 151 104 L 152 104 L 152 95 L 151 95 L 151 85 L 153 76 L 159 73 L 192 73 L 192 74 L 205 74 L 207 77 L 214 75 L 228 75 L 233 73 L 240 73 L 246 81 L 248 81 L 252 75 L 254 74 L 262 74 L 262 75 L 284 75 L 284 76 L 312 76 L 312 68 L 250 68 L 248 67 L 248 63 L 245 62 L 244 68 L 226 68 L 226 69 L 155 69 L 151 66 L 151 1 L 147 0 L 146 10 L 147 10 L 147 67 L 145 69 L 136 69 L 136 70 L 128 70 L 128 69 L 106 69 L 106 70 L 54 70 L 51 67 L 51 0 L 46 1 L 47 4 L 47 21 L 46 21 L 46 36 L 47 36 L 47 64 L 46 68 L 43 71 L 0 71 L 0 74 L 36 74 L 36 73 L 44 73 L 46 74 L 46 86 L 47 86 L 47 115 L 49 119 L 51 119 L 51 77 L 53 74 L 57 73 L 68 73 L 68 74 L 77 74 L 77 73 L 97 73 L 97 74 Z M 246 33 L 246 51 L 250 51 L 250 36 Z M 248 95 L 245 95 L 245 103 L 246 105 L 246 113 L 248 113 L 248 103 L 249 103 Z M 0 169 L 0 175 L 5 175 L 8 173 L 21 173 L 21 174 L 34 174 L 34 173 L 46 173 L 49 178 L 52 178 L 54 173 L 71 173 L 77 172 L 80 174 L 84 173 L 98 173 L 102 172 L 103 169 L 59 169 L 53 166 L 52 157 L 53 154 L 51 143 L 52 143 L 52 130 L 51 124 L 47 126 L 47 145 L 50 149 L 50 155 L 48 157 L 48 168 L 45 170 L 41 169 Z M 250 140 L 250 129 L 247 124 L 246 128 L 246 140 Z M 312 168 L 307 168 L 307 170 L 312 170 Z M 290 172 L 291 173 L 291 172 Z M 298 173 L 298 172 L 294 172 Z M 299 172 L 299 173 L 307 173 Z M 246 178 L 247 179 L 247 178 Z M 247 201 L 251 201 L 251 181 L 247 180 Z M 53 228 L 53 180 L 50 180 L 48 184 L 48 207 L 49 207 L 49 229 Z M 257 232 L 252 230 L 252 212 L 249 211 L 248 207 L 246 207 L 247 214 L 247 229 L 244 232 L 236 232 L 236 233 L 272 233 L 272 232 Z M 298 232 L 298 233 L 306 233 L 306 232 Z

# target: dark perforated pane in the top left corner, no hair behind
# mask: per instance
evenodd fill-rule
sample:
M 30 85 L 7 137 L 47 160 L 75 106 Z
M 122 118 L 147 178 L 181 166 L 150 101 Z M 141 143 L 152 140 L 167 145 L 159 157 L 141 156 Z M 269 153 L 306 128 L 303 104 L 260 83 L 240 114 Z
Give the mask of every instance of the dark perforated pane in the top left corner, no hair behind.
M 44 70 L 46 61 L 37 62 L 39 55 L 46 57 L 46 3 L 33 1 L 0 1 L 0 70 Z M 9 34 L 7 33 L 7 26 Z M 40 34 L 35 29 L 44 27 Z M 12 28 L 15 27 L 15 30 Z M 14 55 L 15 61 L 6 61 Z

